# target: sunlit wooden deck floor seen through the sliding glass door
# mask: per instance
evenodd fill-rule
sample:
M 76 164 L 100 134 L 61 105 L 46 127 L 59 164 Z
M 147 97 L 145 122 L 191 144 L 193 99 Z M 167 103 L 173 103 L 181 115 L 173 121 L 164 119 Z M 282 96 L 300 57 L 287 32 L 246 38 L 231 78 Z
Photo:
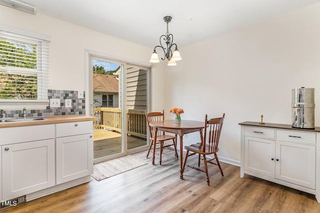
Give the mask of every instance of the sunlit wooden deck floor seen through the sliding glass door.
M 127 148 L 146 145 L 146 139 L 127 136 Z M 121 134 L 105 129 L 93 130 L 93 158 L 99 158 L 121 152 Z

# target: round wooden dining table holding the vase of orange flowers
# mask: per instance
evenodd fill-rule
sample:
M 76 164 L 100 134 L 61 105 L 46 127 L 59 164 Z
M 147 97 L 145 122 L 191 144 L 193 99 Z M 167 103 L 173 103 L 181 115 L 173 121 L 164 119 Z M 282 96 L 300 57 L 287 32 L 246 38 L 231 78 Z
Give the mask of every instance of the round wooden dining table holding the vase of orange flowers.
M 149 123 L 154 128 L 154 141 L 156 141 L 157 131 L 165 131 L 179 135 L 180 137 L 180 179 L 183 179 L 183 134 L 191 132 L 200 132 L 200 139 L 202 140 L 202 130 L 204 128 L 203 121 L 196 120 L 182 120 L 181 123 L 174 123 L 174 120 L 159 120 L 150 121 Z M 155 146 L 153 146 L 153 153 Z M 152 164 L 154 164 L 154 157 L 152 157 Z

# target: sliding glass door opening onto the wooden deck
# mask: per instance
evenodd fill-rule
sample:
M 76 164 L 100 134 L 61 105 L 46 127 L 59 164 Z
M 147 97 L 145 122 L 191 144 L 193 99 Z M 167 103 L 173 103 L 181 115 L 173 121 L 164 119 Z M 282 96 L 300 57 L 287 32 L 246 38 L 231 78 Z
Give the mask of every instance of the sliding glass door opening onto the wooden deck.
M 94 55 L 89 67 L 94 161 L 146 149 L 149 68 Z

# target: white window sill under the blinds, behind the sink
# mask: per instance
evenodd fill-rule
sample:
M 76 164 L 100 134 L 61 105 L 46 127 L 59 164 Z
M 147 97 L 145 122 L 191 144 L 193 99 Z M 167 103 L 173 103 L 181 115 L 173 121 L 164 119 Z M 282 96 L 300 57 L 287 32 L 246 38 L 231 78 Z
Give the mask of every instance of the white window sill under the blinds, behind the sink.
M 46 109 L 49 105 L 49 100 L 17 100 L 17 99 L 0 99 L 0 109 Z

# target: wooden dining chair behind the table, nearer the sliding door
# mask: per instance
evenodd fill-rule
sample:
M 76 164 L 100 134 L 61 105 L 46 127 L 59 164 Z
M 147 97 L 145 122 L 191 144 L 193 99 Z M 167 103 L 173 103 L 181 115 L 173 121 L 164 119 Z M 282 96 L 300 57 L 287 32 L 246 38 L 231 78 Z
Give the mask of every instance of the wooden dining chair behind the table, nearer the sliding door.
M 146 110 L 144 110 L 144 112 L 145 112 L 146 122 L 147 122 L 148 128 L 149 128 L 149 134 L 150 134 L 149 139 L 151 140 L 146 157 L 149 156 L 149 152 L 150 152 L 152 146 L 155 146 L 156 144 L 160 144 L 159 145 L 159 153 L 153 152 L 152 162 L 154 162 L 154 157 L 155 157 L 154 154 L 158 154 L 160 156 L 160 165 L 161 165 L 163 148 L 174 150 L 174 155 L 176 156 L 176 158 L 178 158 L 178 154 L 176 152 L 176 134 L 175 135 L 167 135 L 167 134 L 164 134 L 164 131 L 157 131 L 156 141 L 154 142 L 154 129 L 152 126 L 150 126 L 149 122 L 163 120 L 164 119 L 164 110 L 162 110 L 162 112 L 149 112 L 149 113 L 147 113 Z M 166 141 L 166 140 L 172 140 L 172 143 L 164 145 L 164 141 Z M 174 149 L 171 148 L 172 145 L 173 145 Z

